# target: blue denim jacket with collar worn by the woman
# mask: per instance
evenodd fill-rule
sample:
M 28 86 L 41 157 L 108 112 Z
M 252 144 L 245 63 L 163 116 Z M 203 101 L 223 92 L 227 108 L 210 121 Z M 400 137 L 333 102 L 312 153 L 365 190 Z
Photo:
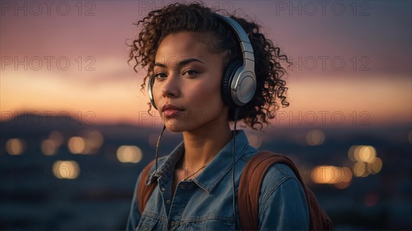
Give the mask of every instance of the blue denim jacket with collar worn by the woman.
M 158 171 L 150 169 L 148 181 L 157 180 L 143 214 L 134 193 L 126 230 L 236 230 L 232 198 L 232 141 L 227 143 L 209 165 L 192 180 L 179 182 L 171 197 L 174 166 L 184 152 L 181 143 L 168 156 L 159 158 Z M 240 175 L 250 158 L 258 153 L 243 131 L 236 134 L 236 200 Z M 139 182 L 137 180 L 137 183 Z M 135 191 L 136 192 L 136 191 Z M 237 202 L 237 201 L 236 201 Z M 237 202 L 242 203 L 242 202 Z M 238 204 L 236 212 L 238 212 Z M 306 197 L 293 171 L 282 164 L 273 165 L 262 182 L 259 198 L 260 230 L 308 230 Z

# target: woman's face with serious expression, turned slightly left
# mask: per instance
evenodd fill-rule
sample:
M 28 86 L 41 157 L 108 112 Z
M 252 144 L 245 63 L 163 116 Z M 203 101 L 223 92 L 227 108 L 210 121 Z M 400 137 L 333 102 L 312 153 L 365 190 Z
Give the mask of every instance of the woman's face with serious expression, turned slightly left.
M 172 132 L 227 125 L 229 108 L 220 95 L 222 54 L 212 53 L 205 43 L 212 39 L 179 32 L 166 36 L 157 49 L 153 97 Z

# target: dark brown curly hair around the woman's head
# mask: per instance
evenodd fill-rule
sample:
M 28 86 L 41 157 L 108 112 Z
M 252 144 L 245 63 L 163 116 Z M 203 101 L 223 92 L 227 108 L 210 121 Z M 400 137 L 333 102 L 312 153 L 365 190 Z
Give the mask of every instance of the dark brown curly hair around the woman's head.
M 139 66 L 147 70 L 141 89 L 146 86 L 146 80 L 153 75 L 155 56 L 160 42 L 169 34 L 177 32 L 207 32 L 214 35 L 214 42 L 209 48 L 215 53 L 227 52 L 225 64 L 233 60 L 242 60 L 242 51 L 236 34 L 216 14 L 225 10 L 211 10 L 202 3 L 173 3 L 160 10 L 153 10 L 134 25 L 141 26 L 141 31 L 130 46 L 128 62 L 135 62 L 133 69 L 137 72 Z M 240 108 L 238 119 L 253 129 L 262 130 L 263 123 L 268 125 L 268 119 L 275 118 L 279 109 L 277 99 L 283 107 L 289 106 L 286 100 L 286 81 L 282 79 L 286 70 L 281 62 L 290 64 L 287 56 L 280 53 L 279 47 L 260 33 L 260 26 L 236 16 L 230 16 L 237 21 L 248 34 L 255 56 L 255 75 L 257 88 L 253 99 Z M 230 33 L 228 33 L 230 32 Z M 149 110 L 151 109 L 151 105 Z M 234 109 L 229 108 L 229 121 L 233 121 Z

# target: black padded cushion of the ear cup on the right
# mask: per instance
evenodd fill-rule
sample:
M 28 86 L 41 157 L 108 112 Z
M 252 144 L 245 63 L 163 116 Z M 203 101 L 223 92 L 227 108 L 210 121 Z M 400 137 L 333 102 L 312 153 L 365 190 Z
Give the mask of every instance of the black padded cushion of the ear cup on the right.
M 222 93 L 223 102 L 225 102 L 225 104 L 229 106 L 229 108 L 236 108 L 236 104 L 231 96 L 230 86 L 231 82 L 234 79 L 236 71 L 238 71 L 239 67 L 242 66 L 242 64 L 242 60 L 235 60 L 227 65 L 226 70 L 223 73 L 222 86 L 220 91 Z

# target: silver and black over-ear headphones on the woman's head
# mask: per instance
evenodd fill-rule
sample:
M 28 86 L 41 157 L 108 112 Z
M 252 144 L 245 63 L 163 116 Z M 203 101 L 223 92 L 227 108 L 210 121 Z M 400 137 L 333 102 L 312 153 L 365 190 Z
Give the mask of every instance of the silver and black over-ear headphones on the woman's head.
M 222 21 L 227 23 L 235 32 L 236 37 L 242 49 L 242 60 L 235 60 L 227 65 L 222 76 L 221 93 L 222 99 L 229 108 L 236 108 L 244 106 L 249 103 L 255 95 L 256 90 L 256 76 L 255 76 L 255 57 L 253 55 L 253 48 L 251 42 L 238 22 L 229 18 L 216 14 Z M 157 109 L 155 100 L 153 99 L 152 87 L 155 83 L 155 77 L 150 77 L 148 82 L 148 95 L 152 106 Z

